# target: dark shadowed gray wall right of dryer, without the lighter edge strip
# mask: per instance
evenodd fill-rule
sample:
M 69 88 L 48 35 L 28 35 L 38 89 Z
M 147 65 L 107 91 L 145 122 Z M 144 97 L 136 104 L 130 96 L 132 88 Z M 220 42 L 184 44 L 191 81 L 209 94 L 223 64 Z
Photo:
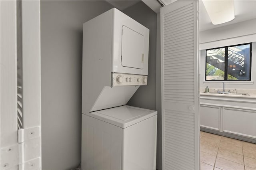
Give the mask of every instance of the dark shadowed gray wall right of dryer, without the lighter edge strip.
M 149 32 L 148 85 L 141 86 L 132 96 L 128 105 L 145 109 L 156 109 L 156 13 L 146 4 L 139 2 L 123 11 Z

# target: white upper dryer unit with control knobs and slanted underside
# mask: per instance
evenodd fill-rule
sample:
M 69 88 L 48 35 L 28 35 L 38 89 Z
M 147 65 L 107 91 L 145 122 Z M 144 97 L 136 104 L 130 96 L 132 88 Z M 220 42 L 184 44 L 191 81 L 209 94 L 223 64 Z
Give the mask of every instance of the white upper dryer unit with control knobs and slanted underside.
M 148 44 L 148 28 L 116 8 L 83 24 L 83 114 L 126 105 L 147 85 Z

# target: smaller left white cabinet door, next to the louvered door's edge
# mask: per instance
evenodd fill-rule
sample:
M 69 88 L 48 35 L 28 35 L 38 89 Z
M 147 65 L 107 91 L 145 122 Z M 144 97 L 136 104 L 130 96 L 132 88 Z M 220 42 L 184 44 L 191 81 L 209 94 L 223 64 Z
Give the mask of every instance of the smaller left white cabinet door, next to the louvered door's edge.
M 200 105 L 200 126 L 220 130 L 220 107 Z

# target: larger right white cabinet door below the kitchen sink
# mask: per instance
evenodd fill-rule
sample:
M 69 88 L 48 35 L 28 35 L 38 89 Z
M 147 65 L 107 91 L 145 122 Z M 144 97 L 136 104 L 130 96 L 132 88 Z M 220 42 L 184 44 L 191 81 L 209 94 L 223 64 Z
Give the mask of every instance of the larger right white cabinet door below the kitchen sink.
M 223 108 L 223 132 L 256 138 L 256 111 Z

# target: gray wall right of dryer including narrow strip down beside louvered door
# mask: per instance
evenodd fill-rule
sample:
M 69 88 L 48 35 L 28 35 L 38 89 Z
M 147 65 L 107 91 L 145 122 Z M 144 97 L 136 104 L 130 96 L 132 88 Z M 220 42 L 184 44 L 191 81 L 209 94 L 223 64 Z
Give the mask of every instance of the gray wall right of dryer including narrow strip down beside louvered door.
M 139 2 L 123 11 L 150 30 L 148 85 L 141 86 L 132 96 L 128 105 L 158 111 L 156 168 L 162 169 L 162 131 L 161 131 L 161 53 L 160 53 L 160 14 Z M 157 39 L 157 34 L 158 39 Z

